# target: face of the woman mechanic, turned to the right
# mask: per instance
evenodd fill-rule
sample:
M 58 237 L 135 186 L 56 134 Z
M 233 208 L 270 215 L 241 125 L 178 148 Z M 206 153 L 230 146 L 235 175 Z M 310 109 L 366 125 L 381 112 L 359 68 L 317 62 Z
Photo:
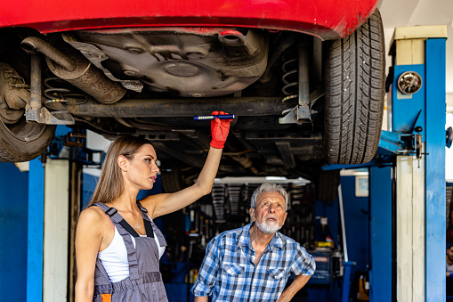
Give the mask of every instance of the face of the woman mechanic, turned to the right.
M 139 190 L 152 189 L 159 172 L 156 160 L 158 160 L 158 157 L 153 146 L 148 143 L 144 144 L 135 153 L 133 159 L 126 160 L 126 169 L 123 174 L 125 176 L 125 183 L 133 184 Z

